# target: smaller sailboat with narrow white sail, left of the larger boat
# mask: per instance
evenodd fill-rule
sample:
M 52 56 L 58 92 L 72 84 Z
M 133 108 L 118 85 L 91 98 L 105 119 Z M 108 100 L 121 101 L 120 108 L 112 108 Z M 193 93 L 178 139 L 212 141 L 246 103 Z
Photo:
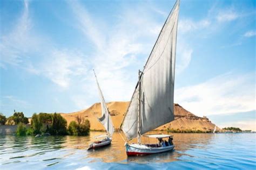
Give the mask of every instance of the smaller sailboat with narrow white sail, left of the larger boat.
M 98 121 L 104 126 L 107 134 L 96 136 L 95 138 L 96 139 L 99 138 L 99 140 L 96 140 L 92 144 L 90 144 L 90 146 L 89 146 L 89 148 L 87 148 L 87 150 L 91 150 L 91 149 L 95 149 L 95 148 L 110 145 L 111 141 L 112 141 L 112 136 L 113 136 L 113 133 L 114 133 L 114 127 L 113 127 L 111 116 L 109 114 L 109 109 L 107 109 L 107 105 L 106 105 L 106 102 L 104 100 L 102 90 L 99 87 L 99 82 L 97 80 L 97 76 L 96 76 L 94 70 L 93 70 L 93 73 L 95 75 L 96 83 L 97 83 L 97 86 L 98 86 L 99 97 L 100 97 L 100 105 L 101 105 L 101 108 L 102 108 L 102 117 L 98 118 Z

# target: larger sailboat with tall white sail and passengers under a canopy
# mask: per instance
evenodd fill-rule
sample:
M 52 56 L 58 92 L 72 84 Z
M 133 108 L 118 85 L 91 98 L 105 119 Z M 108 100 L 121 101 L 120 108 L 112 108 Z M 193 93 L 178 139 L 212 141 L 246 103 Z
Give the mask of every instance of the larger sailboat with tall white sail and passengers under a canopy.
M 141 72 L 120 129 L 126 137 L 126 154 L 148 155 L 172 151 L 169 134 L 149 134 L 159 144 L 142 144 L 143 134 L 174 120 L 173 95 L 179 0 L 174 4 Z M 133 138 L 137 144 L 129 144 Z M 169 142 L 163 143 L 163 138 Z

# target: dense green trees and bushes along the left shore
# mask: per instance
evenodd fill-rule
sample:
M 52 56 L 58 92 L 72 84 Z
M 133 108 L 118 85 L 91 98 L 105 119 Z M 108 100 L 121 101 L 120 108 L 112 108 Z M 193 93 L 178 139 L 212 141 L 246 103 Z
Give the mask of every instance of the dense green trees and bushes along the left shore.
M 72 121 L 68 126 L 66 119 L 56 112 L 54 114 L 35 113 L 31 117 L 30 124 L 23 112 L 15 112 L 9 118 L 0 113 L 0 125 L 17 125 L 15 132 L 17 136 L 87 136 L 90 133 L 90 121 L 88 119 L 77 116 L 76 121 Z

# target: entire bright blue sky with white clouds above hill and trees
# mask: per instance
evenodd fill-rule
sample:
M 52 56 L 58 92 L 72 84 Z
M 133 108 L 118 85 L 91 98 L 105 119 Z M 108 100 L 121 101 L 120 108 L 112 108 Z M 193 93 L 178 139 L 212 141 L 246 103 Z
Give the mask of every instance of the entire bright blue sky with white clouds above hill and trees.
M 175 1 L 0 1 L 0 112 L 130 101 Z M 256 130 L 256 1 L 181 0 L 174 102 Z

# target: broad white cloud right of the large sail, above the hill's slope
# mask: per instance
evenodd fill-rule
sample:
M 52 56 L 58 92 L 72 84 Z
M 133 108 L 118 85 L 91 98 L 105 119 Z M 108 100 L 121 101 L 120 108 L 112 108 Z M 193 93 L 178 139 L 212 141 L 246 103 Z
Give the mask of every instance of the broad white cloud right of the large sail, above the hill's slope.
M 219 75 L 174 90 L 174 101 L 199 116 L 256 110 L 254 78 L 254 74 Z

